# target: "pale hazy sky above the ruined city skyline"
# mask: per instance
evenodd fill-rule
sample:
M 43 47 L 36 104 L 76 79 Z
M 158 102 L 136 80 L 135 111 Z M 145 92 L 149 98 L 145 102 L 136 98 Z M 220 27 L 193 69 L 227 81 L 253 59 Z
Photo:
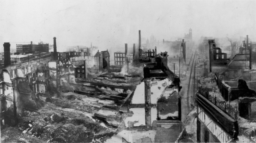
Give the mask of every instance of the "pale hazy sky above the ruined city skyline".
M 182 38 L 191 27 L 201 36 L 239 37 L 256 41 L 256 2 L 174 0 L 0 0 L 0 43 L 33 41 L 93 45 L 102 49 L 138 43 L 153 34 L 157 40 Z

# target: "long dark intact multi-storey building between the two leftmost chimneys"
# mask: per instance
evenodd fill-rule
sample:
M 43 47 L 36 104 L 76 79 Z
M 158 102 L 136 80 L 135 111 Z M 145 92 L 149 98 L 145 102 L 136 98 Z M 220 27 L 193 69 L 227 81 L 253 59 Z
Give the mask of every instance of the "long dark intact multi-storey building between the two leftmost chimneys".
M 44 44 L 39 42 L 38 44 L 16 44 L 16 52 L 19 53 L 33 53 L 33 52 L 49 52 L 49 43 Z

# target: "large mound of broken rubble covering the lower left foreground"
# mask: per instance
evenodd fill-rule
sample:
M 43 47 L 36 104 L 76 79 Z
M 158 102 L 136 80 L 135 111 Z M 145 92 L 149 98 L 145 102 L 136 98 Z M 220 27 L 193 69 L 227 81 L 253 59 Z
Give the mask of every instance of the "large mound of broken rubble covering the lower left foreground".
M 107 137 L 104 134 L 111 133 L 114 128 L 96 122 L 92 117 L 106 104 L 113 102 L 75 93 L 61 94 L 59 98 L 49 98 L 48 103 L 37 112 L 25 110 L 20 113 L 22 118 L 18 126 L 5 128 L 2 132 L 17 128 L 19 131 L 14 134 L 28 135 L 28 139 L 22 142 L 92 142 L 95 135 L 96 139 L 102 140 L 104 136 Z M 5 134 L 2 137 L 2 141 L 20 142 L 7 139 Z M 35 137 L 40 140 L 34 139 Z

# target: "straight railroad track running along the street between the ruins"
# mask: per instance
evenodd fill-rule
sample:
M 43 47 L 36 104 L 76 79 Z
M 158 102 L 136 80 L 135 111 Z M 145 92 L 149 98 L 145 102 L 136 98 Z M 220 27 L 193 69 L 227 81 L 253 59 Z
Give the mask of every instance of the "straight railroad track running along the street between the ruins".
M 194 104 L 194 94 L 196 87 L 196 58 L 197 58 L 197 51 L 194 52 L 193 62 L 190 66 L 190 75 L 189 75 L 189 83 L 188 83 L 188 90 L 187 90 L 187 107 L 188 111 L 191 110 L 191 104 Z M 192 97 L 192 100 L 191 100 Z M 193 102 L 193 103 L 192 103 Z

